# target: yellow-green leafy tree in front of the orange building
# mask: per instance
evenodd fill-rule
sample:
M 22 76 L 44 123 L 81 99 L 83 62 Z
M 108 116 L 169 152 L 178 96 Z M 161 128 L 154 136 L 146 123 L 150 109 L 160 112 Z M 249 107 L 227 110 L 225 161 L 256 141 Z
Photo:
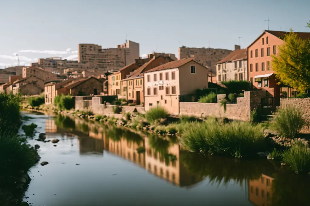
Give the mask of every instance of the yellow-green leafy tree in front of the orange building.
M 293 30 L 284 35 L 286 42 L 272 55 L 272 70 L 280 82 L 304 92 L 310 88 L 310 40 L 303 40 Z

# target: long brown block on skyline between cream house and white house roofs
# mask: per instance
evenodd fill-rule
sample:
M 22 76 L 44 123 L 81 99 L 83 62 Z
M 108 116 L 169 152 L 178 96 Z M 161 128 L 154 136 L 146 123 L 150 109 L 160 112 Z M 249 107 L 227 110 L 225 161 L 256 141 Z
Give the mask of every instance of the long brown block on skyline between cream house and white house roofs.
M 232 53 L 229 49 L 220 48 L 189 48 L 179 47 L 179 60 L 184 58 L 195 58 L 196 61 L 210 69 L 212 74 L 216 74 L 215 64 L 221 59 Z

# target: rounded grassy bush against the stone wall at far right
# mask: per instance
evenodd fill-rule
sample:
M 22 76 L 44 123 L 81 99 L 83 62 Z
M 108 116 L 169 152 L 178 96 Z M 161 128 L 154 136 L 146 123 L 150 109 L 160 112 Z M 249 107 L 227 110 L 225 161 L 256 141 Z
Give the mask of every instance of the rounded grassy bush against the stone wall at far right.
M 305 124 L 304 111 L 297 106 L 288 104 L 279 108 L 270 128 L 286 138 L 294 138 Z

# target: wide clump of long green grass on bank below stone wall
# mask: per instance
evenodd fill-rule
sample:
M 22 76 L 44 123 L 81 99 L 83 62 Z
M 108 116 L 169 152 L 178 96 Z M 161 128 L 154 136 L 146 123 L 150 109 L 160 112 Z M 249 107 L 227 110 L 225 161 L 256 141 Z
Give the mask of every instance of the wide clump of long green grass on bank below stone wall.
M 248 122 L 217 122 L 216 119 L 193 123 L 184 129 L 181 143 L 190 151 L 203 154 L 244 157 L 264 149 L 261 125 Z

